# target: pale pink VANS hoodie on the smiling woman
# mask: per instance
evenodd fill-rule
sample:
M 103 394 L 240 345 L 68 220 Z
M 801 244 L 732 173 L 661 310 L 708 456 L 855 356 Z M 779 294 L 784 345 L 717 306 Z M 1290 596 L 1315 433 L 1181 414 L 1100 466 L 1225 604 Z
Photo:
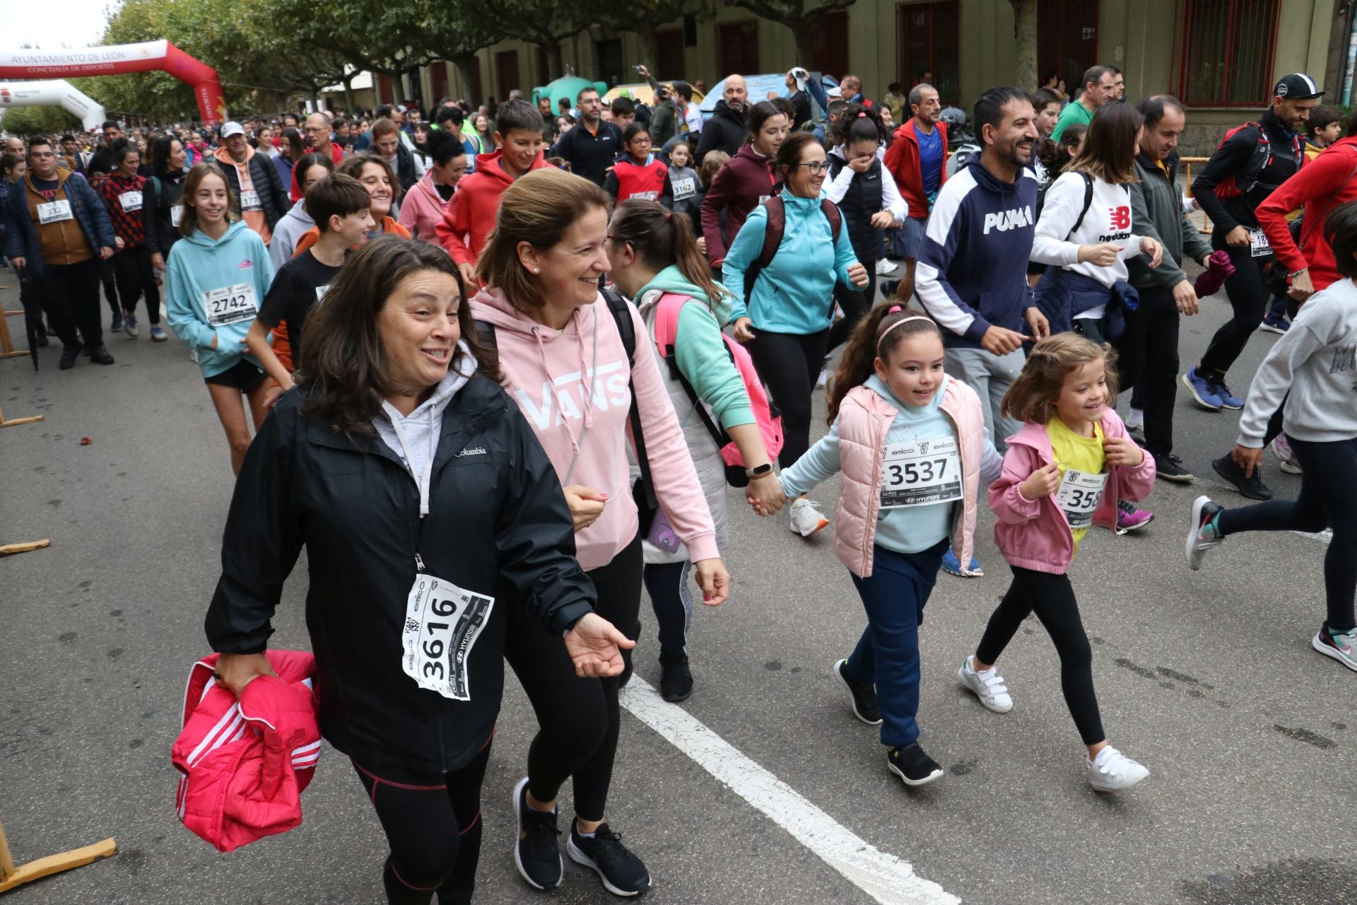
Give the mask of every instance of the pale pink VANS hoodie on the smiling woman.
M 471 312 L 495 326 L 503 387 L 532 425 L 560 483 L 608 494 L 603 516 L 575 535 L 581 569 L 607 566 L 639 528 L 627 463 L 627 350 L 608 303 L 598 296 L 577 309 L 559 334 L 520 315 L 499 289 L 476 293 Z M 631 319 L 636 336 L 646 336 L 635 309 Z M 692 560 L 715 559 L 721 555 L 716 529 L 660 365 L 643 345 L 636 353 L 630 372 L 655 495 Z M 593 377 L 592 392 L 581 380 L 586 373 Z

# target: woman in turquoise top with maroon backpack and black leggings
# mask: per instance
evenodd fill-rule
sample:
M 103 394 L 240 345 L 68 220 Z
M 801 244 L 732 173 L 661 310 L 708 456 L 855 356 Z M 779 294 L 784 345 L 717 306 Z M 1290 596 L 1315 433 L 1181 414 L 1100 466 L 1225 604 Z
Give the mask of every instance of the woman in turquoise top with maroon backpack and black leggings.
M 725 285 L 734 296 L 735 339 L 750 343 L 759 374 L 782 410 L 778 461 L 788 468 L 810 448 L 810 393 L 829 346 L 835 286 L 862 289 L 868 275 L 854 256 L 839 208 L 820 197 L 829 164 L 816 137 L 798 132 L 783 141 L 776 168 L 783 193 L 754 208 L 740 228 L 725 255 Z M 726 172 L 729 167 L 715 185 Z M 710 256 L 710 235 L 707 242 Z M 805 497 L 791 505 L 791 529 L 802 537 L 828 524 Z

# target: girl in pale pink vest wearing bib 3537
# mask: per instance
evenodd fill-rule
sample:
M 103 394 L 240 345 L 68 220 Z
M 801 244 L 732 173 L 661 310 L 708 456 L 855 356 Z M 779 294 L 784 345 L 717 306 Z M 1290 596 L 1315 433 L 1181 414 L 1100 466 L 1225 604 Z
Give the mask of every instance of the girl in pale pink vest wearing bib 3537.
M 970 562 L 984 412 L 976 391 L 943 373 L 938 326 L 900 305 L 858 323 L 828 404 L 829 433 L 782 472 L 782 488 L 797 498 L 843 471 L 835 552 L 867 628 L 832 672 L 858 719 L 881 726 L 886 768 L 923 786 L 943 771 L 919 746 L 919 625 L 947 545 Z

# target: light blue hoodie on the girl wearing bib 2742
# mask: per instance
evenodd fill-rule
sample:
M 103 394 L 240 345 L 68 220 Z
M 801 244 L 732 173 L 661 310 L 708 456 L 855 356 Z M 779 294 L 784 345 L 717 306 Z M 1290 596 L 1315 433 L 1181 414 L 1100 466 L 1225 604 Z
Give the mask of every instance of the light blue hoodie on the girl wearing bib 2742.
M 194 229 L 191 236 L 174 243 L 170 261 L 166 262 L 166 309 L 175 335 L 198 353 L 198 368 L 204 377 L 231 370 L 242 360 L 259 366 L 258 360 L 246 353 L 243 342 L 254 316 L 214 327 L 208 322 L 204 308 L 205 293 L 247 285 L 248 289 L 231 294 L 236 300 L 252 294 L 258 313 L 271 282 L 269 250 L 259 233 L 242 220 L 227 227 L 220 242 Z M 212 347 L 213 336 L 217 338 L 216 349 Z

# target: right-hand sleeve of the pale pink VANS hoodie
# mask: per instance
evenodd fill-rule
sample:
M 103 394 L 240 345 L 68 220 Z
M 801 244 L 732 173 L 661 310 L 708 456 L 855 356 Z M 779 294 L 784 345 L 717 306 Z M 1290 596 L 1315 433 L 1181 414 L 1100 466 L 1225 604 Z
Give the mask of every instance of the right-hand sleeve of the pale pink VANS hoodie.
M 598 304 L 607 305 L 605 301 Z M 669 402 L 660 365 L 643 343 L 650 334 L 634 308 L 631 320 L 638 339 L 631 381 L 636 391 L 636 408 L 641 411 L 641 430 L 646 437 L 646 459 L 655 482 L 655 497 L 669 516 L 678 540 L 688 548 L 692 562 L 718 559 L 721 551 L 716 548 L 716 528 L 711 521 L 711 510 L 707 509 L 707 497 L 702 493 L 702 482 L 697 480 L 688 442 L 673 403 Z M 627 434 L 631 436 L 630 423 Z

